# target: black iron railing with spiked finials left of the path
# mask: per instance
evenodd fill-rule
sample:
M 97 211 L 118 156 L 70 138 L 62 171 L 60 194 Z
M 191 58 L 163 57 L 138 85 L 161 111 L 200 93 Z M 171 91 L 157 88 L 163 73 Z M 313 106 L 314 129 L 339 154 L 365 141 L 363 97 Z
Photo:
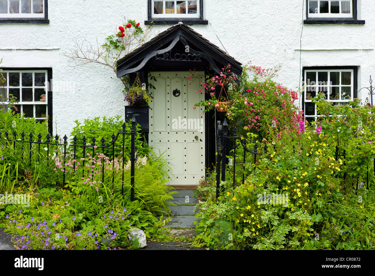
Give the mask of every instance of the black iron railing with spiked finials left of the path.
M 92 143 L 91 145 L 87 145 L 87 138 L 86 136 L 83 137 L 82 139 L 82 144 L 78 144 L 77 141 L 77 136 L 74 136 L 74 138 L 72 139 L 72 145 L 70 145 L 68 143 L 68 137 L 65 135 L 63 137 L 63 141 L 60 141 L 59 143 L 59 139 L 60 137 L 56 134 L 55 137 L 52 137 L 50 134 L 47 134 L 46 136 L 46 142 L 42 142 L 42 135 L 39 133 L 37 135 L 37 140 L 34 141 L 34 134 L 33 133 L 30 133 L 28 134 L 28 137 L 29 139 L 28 140 L 25 140 L 25 136 L 27 136 L 26 133 L 22 132 L 20 135 L 21 135 L 21 139 L 18 139 L 18 134 L 17 132 L 13 132 L 12 134 L 9 134 L 7 131 L 5 131 L 4 133 L 4 137 L 2 137 L 2 133 L 0 131 L 0 140 L 4 140 L 6 141 L 7 143 L 5 143 L 6 146 L 13 146 L 13 149 L 16 148 L 16 143 L 21 143 L 21 151 L 22 152 L 27 152 L 28 151 L 28 160 L 29 160 L 29 164 L 31 162 L 31 155 L 32 155 L 32 152 L 33 152 L 33 144 L 34 145 L 37 145 L 37 152 L 38 152 L 38 158 L 37 158 L 37 162 L 39 163 L 40 162 L 40 146 L 43 145 L 46 147 L 46 158 L 47 158 L 47 161 L 49 161 L 49 152 L 52 152 L 52 151 L 55 151 L 56 154 L 58 153 L 59 151 L 59 147 L 60 148 L 63 148 L 62 151 L 63 151 L 63 162 L 62 162 L 62 172 L 63 172 L 63 184 L 65 186 L 66 182 L 65 182 L 65 167 L 66 167 L 66 157 L 67 157 L 67 149 L 69 148 L 72 148 L 73 151 L 72 151 L 72 154 L 73 154 L 73 160 L 76 160 L 77 159 L 77 149 L 79 148 L 82 148 L 82 156 L 83 158 L 81 159 L 83 161 L 82 163 L 82 167 L 84 168 L 85 167 L 85 161 L 86 161 L 86 151 L 91 151 L 92 150 L 92 154 L 93 154 L 93 157 L 95 156 L 95 152 L 97 151 L 101 151 L 102 154 L 104 155 L 104 149 L 106 148 L 112 148 L 112 171 L 113 171 L 113 176 L 112 176 L 112 184 L 114 184 L 114 165 L 115 165 L 115 142 L 118 140 L 118 138 L 120 137 L 120 135 L 122 135 L 122 187 L 121 187 L 121 195 L 124 194 L 124 164 L 125 164 L 125 135 L 130 135 L 130 200 L 131 201 L 134 201 L 134 191 L 135 191 L 135 187 L 134 187 L 134 167 L 135 167 L 135 162 L 137 160 L 137 156 L 135 154 L 135 134 L 136 134 L 136 120 L 135 120 L 135 117 L 133 115 L 133 118 L 132 120 L 130 121 L 131 123 L 131 128 L 130 128 L 130 132 L 126 132 L 126 124 L 124 123 L 122 125 L 122 131 L 119 131 L 117 133 L 117 135 L 115 135 L 114 133 L 112 134 L 111 136 L 111 142 L 108 144 L 108 145 L 105 145 L 106 143 L 106 140 L 104 139 L 104 137 L 102 137 L 102 139 L 100 140 L 101 141 L 101 145 L 97 146 L 96 145 L 96 142 L 97 140 L 95 139 L 95 137 L 93 137 L 91 140 L 92 140 Z M 27 146 L 24 146 L 24 144 L 29 144 L 28 147 Z M 24 154 L 22 154 L 22 157 L 23 157 Z M 104 170 L 105 170 L 105 164 L 104 164 L 104 160 L 102 160 L 102 167 L 101 167 L 101 171 L 102 171 L 102 185 L 104 185 Z M 73 173 L 76 172 L 76 161 L 73 162 Z M 84 169 L 83 169 L 83 172 L 82 172 L 82 177 L 84 176 Z

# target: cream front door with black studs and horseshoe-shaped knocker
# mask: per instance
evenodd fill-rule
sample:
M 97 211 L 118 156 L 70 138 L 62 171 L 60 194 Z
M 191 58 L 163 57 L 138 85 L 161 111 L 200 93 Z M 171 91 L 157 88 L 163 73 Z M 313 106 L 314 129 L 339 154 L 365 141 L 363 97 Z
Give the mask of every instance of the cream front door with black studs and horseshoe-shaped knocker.
M 151 76 L 156 81 L 148 80 L 155 87 L 150 89 L 148 143 L 154 151 L 165 152 L 171 167 L 170 185 L 196 185 L 205 174 L 205 131 L 204 107 L 193 106 L 204 100 L 204 72 L 193 76 L 188 72 L 151 72 Z

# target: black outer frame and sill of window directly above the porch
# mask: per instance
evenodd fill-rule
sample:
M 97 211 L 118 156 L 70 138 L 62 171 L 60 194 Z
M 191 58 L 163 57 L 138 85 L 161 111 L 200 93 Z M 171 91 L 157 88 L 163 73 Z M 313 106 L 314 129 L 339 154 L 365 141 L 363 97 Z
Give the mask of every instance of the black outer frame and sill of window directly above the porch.
M 203 18 L 204 5 L 203 0 L 199 1 L 199 18 L 152 18 L 152 0 L 147 0 L 147 20 L 145 25 L 175 25 L 182 22 L 186 25 L 207 25 L 208 20 Z

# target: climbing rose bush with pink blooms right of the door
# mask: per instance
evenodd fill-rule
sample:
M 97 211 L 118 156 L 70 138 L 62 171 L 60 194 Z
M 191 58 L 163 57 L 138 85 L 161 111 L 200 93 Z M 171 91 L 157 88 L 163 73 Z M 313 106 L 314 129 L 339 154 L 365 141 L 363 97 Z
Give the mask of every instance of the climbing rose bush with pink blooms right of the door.
M 239 82 L 230 65 L 222 69 L 219 75 L 206 78 L 205 92 L 210 93 L 211 99 L 195 106 L 205 106 L 205 112 L 214 109 L 219 101 L 214 87 L 224 85 L 228 95 L 226 115 L 230 125 L 236 126 L 241 134 L 253 132 L 268 137 L 273 133 L 277 139 L 282 134 L 303 131 L 300 128 L 301 122 L 304 124 L 303 112 L 295 105 L 297 92 L 273 80 L 280 67 L 263 69 L 248 64 Z

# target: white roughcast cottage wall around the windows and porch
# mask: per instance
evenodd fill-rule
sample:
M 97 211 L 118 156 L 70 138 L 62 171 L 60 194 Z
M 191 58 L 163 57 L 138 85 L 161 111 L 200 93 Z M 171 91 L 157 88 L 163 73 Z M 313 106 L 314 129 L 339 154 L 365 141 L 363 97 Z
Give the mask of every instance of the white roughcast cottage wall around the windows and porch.
M 302 82 L 304 66 L 344 65 L 359 66 L 360 88 L 375 75 L 372 4 L 358 1 L 358 19 L 366 20 L 365 25 L 308 25 L 303 24 L 305 0 L 205 0 L 204 18 L 209 23 L 192 28 L 243 64 L 252 60 L 263 68 L 281 65 L 276 80 L 291 89 Z M 77 119 L 123 115 L 123 86 L 114 72 L 94 63 L 73 67 L 65 54 L 74 49 L 75 41 L 103 42 L 125 16 L 143 26 L 147 0 L 49 0 L 49 24 L 0 24 L 1 68 L 52 68 L 54 133 L 69 134 Z M 155 26 L 155 34 L 168 27 Z

